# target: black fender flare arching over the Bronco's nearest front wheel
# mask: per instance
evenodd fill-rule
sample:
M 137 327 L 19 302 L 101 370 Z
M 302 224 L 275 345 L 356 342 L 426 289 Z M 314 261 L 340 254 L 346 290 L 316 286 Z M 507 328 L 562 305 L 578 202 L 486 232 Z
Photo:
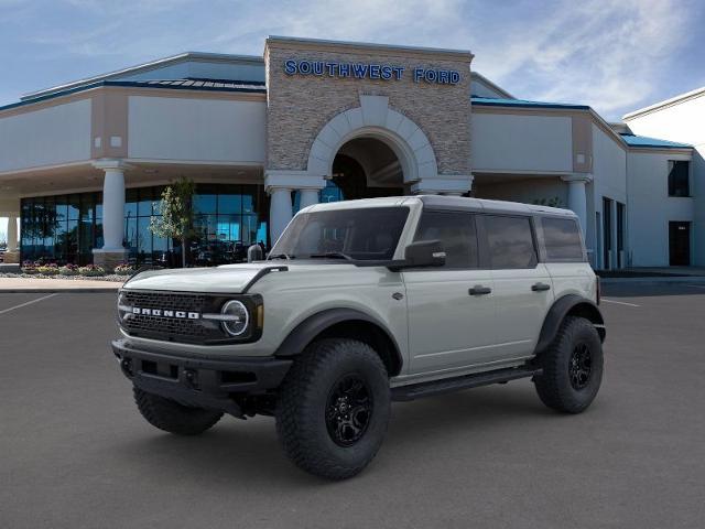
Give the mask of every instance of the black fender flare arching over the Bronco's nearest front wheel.
M 393 334 L 373 316 L 356 309 L 328 309 L 308 316 L 296 325 L 276 348 L 274 356 L 291 357 L 300 355 L 304 348 L 325 330 L 344 322 L 362 321 L 375 325 L 389 341 L 393 355 L 393 363 L 398 366 L 397 373 L 401 370 L 403 358 L 399 349 L 399 344 Z M 380 352 L 378 352 L 380 353 Z

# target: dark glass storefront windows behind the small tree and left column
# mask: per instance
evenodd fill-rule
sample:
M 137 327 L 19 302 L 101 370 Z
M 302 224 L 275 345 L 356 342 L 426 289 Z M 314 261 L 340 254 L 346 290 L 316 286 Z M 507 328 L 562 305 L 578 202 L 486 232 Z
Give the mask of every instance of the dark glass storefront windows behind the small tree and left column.
M 180 266 L 178 241 L 154 236 L 163 187 L 130 188 L 124 204 L 124 248 L 134 264 Z M 269 202 L 258 185 L 197 185 L 194 223 L 197 234 L 187 247 L 189 264 L 247 260 L 247 247 L 268 242 Z M 87 264 L 93 249 L 102 247 L 102 193 L 23 198 L 21 205 L 24 260 Z

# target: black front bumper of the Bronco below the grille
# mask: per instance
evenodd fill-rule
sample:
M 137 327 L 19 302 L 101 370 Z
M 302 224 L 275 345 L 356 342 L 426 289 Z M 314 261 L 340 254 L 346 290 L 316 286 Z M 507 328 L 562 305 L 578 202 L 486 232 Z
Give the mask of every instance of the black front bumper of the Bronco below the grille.
M 275 389 L 292 364 L 275 357 L 175 356 L 135 348 L 127 338 L 113 341 L 112 352 L 124 376 L 143 391 L 236 417 L 243 413 L 235 397 L 264 395 Z

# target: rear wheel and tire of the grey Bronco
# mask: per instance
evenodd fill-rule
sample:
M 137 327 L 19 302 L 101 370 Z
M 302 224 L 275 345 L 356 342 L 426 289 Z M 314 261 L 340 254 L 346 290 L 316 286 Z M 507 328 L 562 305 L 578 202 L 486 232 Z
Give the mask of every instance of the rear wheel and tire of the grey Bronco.
M 534 384 L 544 404 L 564 413 L 590 406 L 603 381 L 603 344 L 589 321 L 566 317 L 540 363 Z

